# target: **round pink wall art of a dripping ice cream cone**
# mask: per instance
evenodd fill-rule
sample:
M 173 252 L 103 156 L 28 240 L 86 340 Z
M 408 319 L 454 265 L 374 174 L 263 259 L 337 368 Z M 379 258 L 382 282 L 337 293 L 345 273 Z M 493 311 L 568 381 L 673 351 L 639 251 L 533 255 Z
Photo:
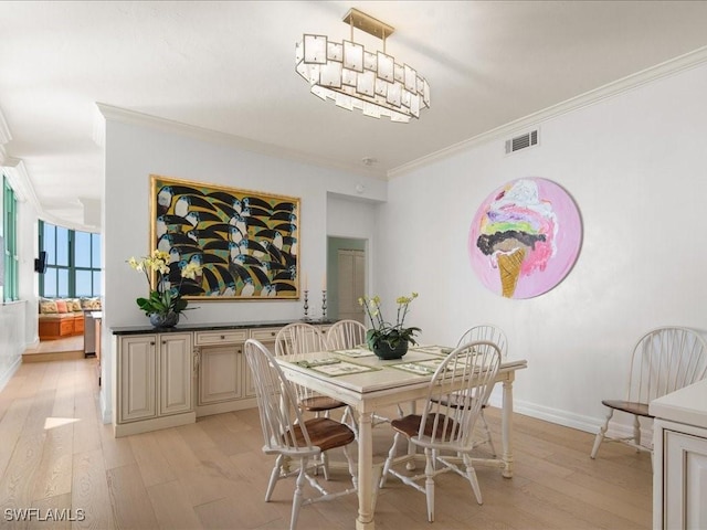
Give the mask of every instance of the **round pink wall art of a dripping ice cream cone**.
M 481 205 L 468 234 L 472 268 L 506 298 L 547 293 L 569 273 L 582 240 L 579 211 L 558 184 L 508 182 Z

